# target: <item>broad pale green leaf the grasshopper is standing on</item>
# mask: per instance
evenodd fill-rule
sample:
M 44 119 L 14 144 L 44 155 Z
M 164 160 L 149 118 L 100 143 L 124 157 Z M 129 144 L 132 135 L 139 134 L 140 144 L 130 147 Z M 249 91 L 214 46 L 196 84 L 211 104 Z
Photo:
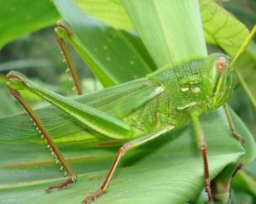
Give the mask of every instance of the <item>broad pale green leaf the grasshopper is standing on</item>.
M 243 134 L 246 140 L 252 138 L 241 121 L 236 117 L 234 120 L 239 132 L 246 133 Z M 227 164 L 236 162 L 243 155 L 243 150 L 230 135 L 222 110 L 202 116 L 201 122 L 213 178 Z M 0 128 L 0 131 L 4 130 Z M 118 150 L 118 147 L 104 144 L 101 148 L 91 148 L 83 142 L 59 144 L 64 156 L 79 173 L 79 180 L 67 190 L 45 194 L 47 186 L 58 184 L 64 178 L 61 178 L 62 173 L 56 171 L 55 161 L 49 160 L 44 146 L 1 143 L 0 152 L 4 157 L 0 164 L 0 189 L 4 203 L 79 203 L 102 184 Z M 255 142 L 253 146 L 255 151 Z M 96 203 L 184 203 L 194 199 L 196 192 L 202 190 L 202 175 L 201 154 L 189 124 L 128 152 L 107 193 Z

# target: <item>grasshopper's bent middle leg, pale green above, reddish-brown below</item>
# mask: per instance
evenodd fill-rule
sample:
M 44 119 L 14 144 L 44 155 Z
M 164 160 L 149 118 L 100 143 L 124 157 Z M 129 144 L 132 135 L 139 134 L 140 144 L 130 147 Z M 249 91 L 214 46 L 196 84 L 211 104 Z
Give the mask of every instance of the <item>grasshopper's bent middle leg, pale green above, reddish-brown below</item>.
M 165 129 L 162 129 L 162 130 L 160 130 L 156 133 L 152 133 L 152 134 L 149 134 L 149 135 L 144 136 L 142 138 L 134 139 L 131 142 L 123 144 L 123 146 L 119 149 L 119 151 L 118 151 L 118 153 L 117 153 L 117 155 L 116 155 L 116 157 L 113 161 L 113 165 L 112 165 L 112 167 L 110 167 L 110 169 L 108 171 L 108 175 L 105 178 L 105 180 L 104 180 L 103 184 L 101 185 L 100 189 L 96 190 L 96 191 L 90 193 L 90 195 L 86 196 L 82 203 L 83 204 L 88 204 L 88 203 L 90 203 L 90 201 L 95 201 L 99 196 L 101 196 L 106 191 L 106 189 L 108 188 L 108 184 L 109 184 L 111 178 L 113 177 L 113 173 L 114 173 L 117 165 L 119 164 L 119 161 L 120 161 L 121 157 L 125 155 L 127 150 L 131 150 L 131 149 L 133 149 L 137 146 L 145 144 L 148 141 L 150 141 L 152 139 L 155 139 L 155 138 L 159 137 L 160 135 L 162 135 L 162 134 L 164 134 L 168 131 L 171 131 L 173 128 L 174 128 L 173 126 L 169 126 L 169 127 L 166 127 Z

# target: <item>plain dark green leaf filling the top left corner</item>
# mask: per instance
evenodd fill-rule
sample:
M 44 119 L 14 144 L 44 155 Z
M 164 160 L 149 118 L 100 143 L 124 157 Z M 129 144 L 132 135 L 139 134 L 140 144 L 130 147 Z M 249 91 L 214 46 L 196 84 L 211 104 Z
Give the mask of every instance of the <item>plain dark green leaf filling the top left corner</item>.
M 49 0 L 0 2 L 0 48 L 18 37 L 49 26 L 60 19 Z

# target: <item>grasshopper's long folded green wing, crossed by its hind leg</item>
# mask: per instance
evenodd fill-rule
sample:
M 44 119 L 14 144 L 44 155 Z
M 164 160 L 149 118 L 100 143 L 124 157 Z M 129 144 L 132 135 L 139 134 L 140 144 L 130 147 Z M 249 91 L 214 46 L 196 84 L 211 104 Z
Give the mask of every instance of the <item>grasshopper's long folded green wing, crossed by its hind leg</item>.
M 103 89 L 94 94 L 87 94 L 74 99 L 79 104 L 109 113 L 111 116 L 122 118 L 154 99 L 162 92 L 162 88 L 154 82 L 143 78 L 127 82 L 113 88 Z M 38 117 L 44 123 L 53 137 L 61 137 L 84 131 L 84 126 L 73 116 L 49 105 L 36 110 Z M 29 124 L 27 116 L 18 114 L 0 119 L 1 140 L 29 139 L 35 135 L 35 128 Z M 15 127 L 15 131 L 13 129 Z

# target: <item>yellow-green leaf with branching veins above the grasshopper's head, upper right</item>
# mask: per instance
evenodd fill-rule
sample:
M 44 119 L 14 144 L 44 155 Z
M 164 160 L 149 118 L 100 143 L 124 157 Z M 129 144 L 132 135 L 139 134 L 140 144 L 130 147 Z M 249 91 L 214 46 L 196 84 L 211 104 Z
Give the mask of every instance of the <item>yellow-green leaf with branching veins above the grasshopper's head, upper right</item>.
M 208 43 L 234 57 L 249 31 L 239 20 L 212 0 L 201 0 L 201 18 Z

